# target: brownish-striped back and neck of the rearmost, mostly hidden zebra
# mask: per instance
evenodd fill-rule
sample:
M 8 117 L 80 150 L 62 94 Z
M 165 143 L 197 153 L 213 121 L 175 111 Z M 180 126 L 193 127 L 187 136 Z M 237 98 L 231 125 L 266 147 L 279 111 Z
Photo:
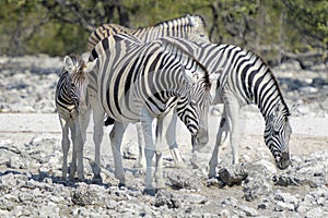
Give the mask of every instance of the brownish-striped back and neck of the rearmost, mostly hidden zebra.
M 163 36 L 210 41 L 203 19 L 200 15 L 187 14 L 178 19 L 160 22 L 154 26 L 141 28 L 128 28 L 117 24 L 103 24 L 91 33 L 87 39 L 89 50 L 91 51 L 102 39 L 119 33 L 133 35 L 142 41 L 150 41 Z

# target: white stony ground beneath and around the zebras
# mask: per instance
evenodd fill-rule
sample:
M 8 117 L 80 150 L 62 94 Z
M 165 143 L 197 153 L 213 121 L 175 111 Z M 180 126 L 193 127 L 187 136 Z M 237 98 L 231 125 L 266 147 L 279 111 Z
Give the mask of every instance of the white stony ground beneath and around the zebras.
M 197 154 L 199 168 L 190 164 L 190 134 L 178 123 L 177 141 L 187 169 L 176 169 L 169 150 L 164 150 L 167 190 L 149 196 L 142 195 L 144 174 L 133 168 L 138 148 L 134 125 L 129 126 L 122 143 L 126 187 L 117 187 L 114 177 L 110 126 L 105 128 L 102 144 L 104 184 L 90 183 L 92 123 L 84 146 L 87 181 L 61 183 L 61 129 L 54 107 L 60 59 L 42 56 L 9 60 L 0 58 L 0 217 L 328 217 L 327 65 L 301 71 L 293 63 L 273 71 L 293 108 L 292 167 L 276 169 L 262 140 L 263 119 L 255 106 L 249 106 L 239 116 L 239 159 L 248 178 L 232 186 L 209 181 L 208 162 L 220 106 L 210 113 L 210 142 Z M 227 141 L 220 148 L 218 170 L 225 167 L 235 169 Z M 179 187 L 173 182 L 177 178 L 184 183 Z

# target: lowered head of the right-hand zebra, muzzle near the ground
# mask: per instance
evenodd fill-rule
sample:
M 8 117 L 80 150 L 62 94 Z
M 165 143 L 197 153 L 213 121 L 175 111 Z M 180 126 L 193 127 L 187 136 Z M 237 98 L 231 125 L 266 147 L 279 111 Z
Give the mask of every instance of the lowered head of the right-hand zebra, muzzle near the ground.
M 290 164 L 289 141 L 292 129 L 286 107 L 277 104 L 266 119 L 265 142 L 274 157 L 279 169 L 286 169 Z

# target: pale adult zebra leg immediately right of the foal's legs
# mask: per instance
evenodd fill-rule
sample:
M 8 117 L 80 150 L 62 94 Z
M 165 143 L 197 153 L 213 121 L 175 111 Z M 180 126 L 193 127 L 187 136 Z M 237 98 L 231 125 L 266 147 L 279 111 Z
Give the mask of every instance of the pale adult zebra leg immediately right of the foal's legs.
M 104 111 L 101 106 L 93 107 L 93 121 L 94 121 L 94 131 L 93 131 L 93 142 L 95 145 L 95 165 L 93 165 L 93 183 L 102 183 L 101 177 L 101 145 L 104 135 Z

